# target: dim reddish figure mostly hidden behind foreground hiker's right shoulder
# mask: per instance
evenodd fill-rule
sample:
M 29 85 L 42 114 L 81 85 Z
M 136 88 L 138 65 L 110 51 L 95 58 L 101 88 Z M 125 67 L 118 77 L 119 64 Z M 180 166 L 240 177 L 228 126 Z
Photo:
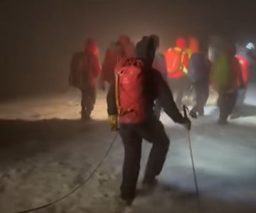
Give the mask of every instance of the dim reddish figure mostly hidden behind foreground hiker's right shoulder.
M 157 71 L 160 71 L 163 79 L 167 82 L 167 67 L 166 67 L 166 61 L 164 58 L 164 54 L 158 51 L 160 47 L 160 38 L 157 35 L 152 35 L 152 38 L 154 38 L 154 44 L 156 48 L 156 54 L 153 61 L 152 67 L 156 69 Z M 154 106 L 154 112 L 156 115 L 156 118 L 160 118 L 161 112 L 162 112 L 162 105 L 160 104 L 160 100 L 156 99 L 155 106 Z

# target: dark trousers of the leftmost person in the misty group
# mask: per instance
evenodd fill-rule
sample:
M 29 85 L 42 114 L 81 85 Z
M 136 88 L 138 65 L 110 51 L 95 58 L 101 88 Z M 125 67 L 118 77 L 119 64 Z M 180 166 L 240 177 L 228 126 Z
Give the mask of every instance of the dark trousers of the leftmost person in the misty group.
M 85 87 L 82 89 L 82 99 L 81 99 L 81 108 L 82 115 L 86 114 L 86 116 L 90 116 L 92 110 L 94 109 L 94 104 L 96 101 L 96 88 Z

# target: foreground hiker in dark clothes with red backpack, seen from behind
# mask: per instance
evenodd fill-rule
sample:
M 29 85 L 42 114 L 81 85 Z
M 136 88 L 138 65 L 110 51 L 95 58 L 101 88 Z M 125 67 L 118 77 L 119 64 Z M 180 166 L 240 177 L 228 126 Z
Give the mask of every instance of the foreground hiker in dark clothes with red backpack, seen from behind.
M 106 97 L 110 126 L 115 129 L 118 120 L 125 148 L 121 198 L 127 204 L 135 198 L 142 140 L 153 144 L 143 179 L 145 187 L 156 183 L 168 152 L 170 142 L 163 124 L 154 115 L 154 101 L 160 100 L 164 112 L 174 122 L 191 126 L 190 120 L 180 114 L 160 72 L 152 68 L 155 51 L 154 38 L 143 37 L 136 45 L 136 58 L 117 64 L 115 80 Z

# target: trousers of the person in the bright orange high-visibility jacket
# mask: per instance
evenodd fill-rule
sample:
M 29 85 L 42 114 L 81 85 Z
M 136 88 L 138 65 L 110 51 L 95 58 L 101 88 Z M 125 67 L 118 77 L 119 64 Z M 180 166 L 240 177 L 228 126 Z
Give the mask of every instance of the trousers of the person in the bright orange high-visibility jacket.
M 180 77 L 177 79 L 168 79 L 168 85 L 172 91 L 174 102 L 179 110 L 182 110 L 182 100 L 187 90 L 187 77 Z

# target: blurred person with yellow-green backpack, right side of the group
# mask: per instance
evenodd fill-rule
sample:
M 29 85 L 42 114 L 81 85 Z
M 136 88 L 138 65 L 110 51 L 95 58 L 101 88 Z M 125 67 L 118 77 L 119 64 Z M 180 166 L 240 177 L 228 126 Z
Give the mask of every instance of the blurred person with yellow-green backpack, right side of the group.
M 226 44 L 224 51 L 216 58 L 212 69 L 212 79 L 218 91 L 220 117 L 218 124 L 227 124 L 228 116 L 234 110 L 238 89 L 244 87 L 241 65 L 236 58 L 236 46 Z

